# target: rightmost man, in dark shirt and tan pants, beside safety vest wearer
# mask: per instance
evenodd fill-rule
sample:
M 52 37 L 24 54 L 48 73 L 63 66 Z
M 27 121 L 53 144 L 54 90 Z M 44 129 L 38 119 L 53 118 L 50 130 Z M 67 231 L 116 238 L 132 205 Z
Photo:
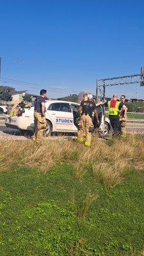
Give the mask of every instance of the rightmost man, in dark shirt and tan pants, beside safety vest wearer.
M 120 96 L 120 128 L 121 128 L 121 137 L 126 137 L 126 125 L 127 125 L 127 109 L 128 104 L 125 102 L 125 95 Z

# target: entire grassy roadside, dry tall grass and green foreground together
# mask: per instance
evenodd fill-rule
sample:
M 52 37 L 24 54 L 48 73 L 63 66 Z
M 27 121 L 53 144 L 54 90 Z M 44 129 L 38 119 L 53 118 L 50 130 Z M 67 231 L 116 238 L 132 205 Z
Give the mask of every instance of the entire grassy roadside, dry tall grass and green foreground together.
M 0 141 L 1 256 L 144 255 L 144 138 Z

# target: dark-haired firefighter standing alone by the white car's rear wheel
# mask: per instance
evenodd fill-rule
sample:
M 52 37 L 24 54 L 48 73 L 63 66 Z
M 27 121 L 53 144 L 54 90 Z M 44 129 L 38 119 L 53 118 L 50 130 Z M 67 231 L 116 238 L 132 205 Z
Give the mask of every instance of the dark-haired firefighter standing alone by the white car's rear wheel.
M 45 120 L 45 98 L 47 97 L 47 91 L 41 90 L 40 97 L 35 99 L 35 110 L 34 110 L 34 118 L 35 118 L 35 134 L 33 137 L 33 141 L 39 143 L 42 141 L 44 136 L 44 131 L 47 127 L 47 121 Z

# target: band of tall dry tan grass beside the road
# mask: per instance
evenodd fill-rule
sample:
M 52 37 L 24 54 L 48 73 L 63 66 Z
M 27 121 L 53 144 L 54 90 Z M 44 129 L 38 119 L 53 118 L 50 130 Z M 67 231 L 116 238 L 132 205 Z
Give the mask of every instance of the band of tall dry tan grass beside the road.
M 32 141 L 0 141 L 0 171 L 13 166 L 38 167 L 47 172 L 54 164 L 67 161 L 74 166 L 76 179 L 83 179 L 93 172 L 93 179 L 108 188 L 123 180 L 125 170 L 144 169 L 144 136 L 131 135 L 127 140 L 98 140 L 93 138 L 92 147 L 86 148 L 77 141 L 45 140 L 43 145 Z

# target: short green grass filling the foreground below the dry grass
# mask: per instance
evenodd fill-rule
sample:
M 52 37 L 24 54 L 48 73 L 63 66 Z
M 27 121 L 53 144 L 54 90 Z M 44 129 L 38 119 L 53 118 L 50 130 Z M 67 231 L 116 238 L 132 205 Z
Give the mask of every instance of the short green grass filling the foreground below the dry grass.
M 91 170 L 76 179 L 68 163 L 48 173 L 0 173 L 0 255 L 141 255 L 143 182 L 143 171 L 129 171 L 121 184 L 106 189 Z M 86 195 L 97 194 L 84 216 L 77 214 Z

